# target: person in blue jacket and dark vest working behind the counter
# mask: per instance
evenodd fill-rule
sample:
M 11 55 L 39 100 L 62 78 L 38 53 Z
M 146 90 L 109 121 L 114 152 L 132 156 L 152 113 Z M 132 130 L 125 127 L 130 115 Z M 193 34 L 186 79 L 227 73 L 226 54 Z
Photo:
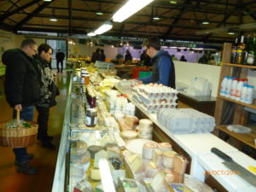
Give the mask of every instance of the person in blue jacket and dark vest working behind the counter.
M 139 78 L 137 81 L 141 81 L 143 84 L 164 84 L 175 89 L 175 67 L 172 56 L 167 51 L 160 50 L 160 40 L 158 38 L 148 38 L 143 46 L 151 58 L 152 75 Z

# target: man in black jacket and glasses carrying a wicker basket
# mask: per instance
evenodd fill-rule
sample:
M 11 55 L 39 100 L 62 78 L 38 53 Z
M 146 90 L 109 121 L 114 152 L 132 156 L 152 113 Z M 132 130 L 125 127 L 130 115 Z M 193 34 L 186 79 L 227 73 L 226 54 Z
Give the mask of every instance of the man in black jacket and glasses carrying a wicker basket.
M 3 64 L 6 65 L 4 90 L 6 100 L 16 110 L 20 110 L 20 118 L 32 121 L 34 119 L 34 105 L 39 99 L 38 75 L 34 68 L 32 55 L 38 51 L 38 45 L 33 39 L 22 41 L 20 49 L 9 49 L 2 55 Z M 26 148 L 14 148 L 17 172 L 32 175 L 38 169 L 31 166 L 28 160 L 33 154 L 27 154 Z

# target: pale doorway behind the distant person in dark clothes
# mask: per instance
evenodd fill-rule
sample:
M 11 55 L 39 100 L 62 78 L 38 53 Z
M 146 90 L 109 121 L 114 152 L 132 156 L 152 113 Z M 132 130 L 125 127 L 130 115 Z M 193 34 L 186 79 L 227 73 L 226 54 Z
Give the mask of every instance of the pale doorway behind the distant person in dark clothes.
M 63 61 L 63 69 L 65 69 L 66 68 L 66 60 L 67 60 L 67 41 L 60 40 L 60 39 L 46 39 L 46 44 L 49 44 L 49 46 L 51 46 L 51 48 L 53 49 L 51 67 L 53 69 L 57 68 L 55 55 L 57 53 L 57 50 L 61 49 L 61 51 L 65 54 L 65 59 Z

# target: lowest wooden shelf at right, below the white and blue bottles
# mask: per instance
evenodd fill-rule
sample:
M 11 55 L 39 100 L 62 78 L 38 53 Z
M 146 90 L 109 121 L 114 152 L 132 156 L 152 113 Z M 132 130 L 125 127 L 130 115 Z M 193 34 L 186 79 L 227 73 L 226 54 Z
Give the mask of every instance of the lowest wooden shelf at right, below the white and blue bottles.
M 233 131 L 229 131 L 227 129 L 227 125 L 218 125 L 215 128 L 217 130 L 224 131 L 225 133 L 229 134 L 231 137 L 236 138 L 241 143 L 245 143 L 248 146 L 256 149 L 256 145 L 254 143 L 254 139 L 256 139 L 255 131 L 252 131 L 251 133 L 236 133 Z

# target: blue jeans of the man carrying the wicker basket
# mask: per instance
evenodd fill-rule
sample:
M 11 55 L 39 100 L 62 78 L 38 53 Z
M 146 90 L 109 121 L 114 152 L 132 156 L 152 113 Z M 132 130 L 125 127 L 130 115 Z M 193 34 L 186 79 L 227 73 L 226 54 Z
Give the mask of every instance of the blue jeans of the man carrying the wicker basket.
M 16 118 L 16 110 L 14 109 L 13 117 Z M 20 119 L 32 121 L 34 119 L 34 106 L 22 106 L 22 111 L 20 111 Z M 14 148 L 16 162 L 26 163 L 28 161 L 28 156 L 26 153 L 26 148 Z

